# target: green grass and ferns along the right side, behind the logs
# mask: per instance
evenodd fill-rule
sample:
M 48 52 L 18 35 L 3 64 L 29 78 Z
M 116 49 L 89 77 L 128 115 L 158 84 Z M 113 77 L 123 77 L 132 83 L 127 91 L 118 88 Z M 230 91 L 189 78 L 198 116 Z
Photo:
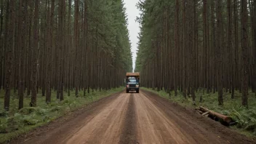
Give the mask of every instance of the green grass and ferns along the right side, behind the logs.
M 184 107 L 196 108 L 204 106 L 212 111 L 231 116 L 233 121 L 236 121 L 236 125 L 231 126 L 232 129 L 236 129 L 248 137 L 256 137 L 256 97 L 255 93 L 251 91 L 249 91 L 248 95 L 249 108 L 245 108 L 241 106 L 241 93 L 237 91 L 235 92 L 234 99 L 231 99 L 231 94 L 229 92 L 223 91 L 224 105 L 221 106 L 218 105 L 217 92 L 207 94 L 206 92 L 199 90 L 196 92 L 196 105 L 193 105 L 192 97 L 188 96 L 185 99 L 181 92 L 177 92 L 177 97 L 174 92 L 171 92 L 169 97 L 169 94 L 164 90 L 157 92 L 156 90 L 145 87 L 142 89 L 154 92 L 161 97 L 169 99 L 172 103 L 178 103 Z M 201 103 L 199 102 L 200 97 L 202 97 Z

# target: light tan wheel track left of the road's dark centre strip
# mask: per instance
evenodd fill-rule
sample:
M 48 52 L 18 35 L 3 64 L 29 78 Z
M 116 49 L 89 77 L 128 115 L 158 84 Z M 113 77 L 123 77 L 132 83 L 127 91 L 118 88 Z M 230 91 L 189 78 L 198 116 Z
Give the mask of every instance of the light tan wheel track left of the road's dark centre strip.
M 118 143 L 127 113 L 129 95 L 121 94 L 111 105 L 62 143 Z

